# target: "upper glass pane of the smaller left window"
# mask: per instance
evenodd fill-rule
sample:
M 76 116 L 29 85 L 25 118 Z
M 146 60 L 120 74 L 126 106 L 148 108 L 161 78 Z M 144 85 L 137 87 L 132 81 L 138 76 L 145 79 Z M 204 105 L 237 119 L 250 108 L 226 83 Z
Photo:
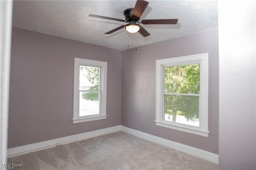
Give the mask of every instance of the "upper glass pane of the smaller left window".
M 79 90 L 99 90 L 100 68 L 80 65 Z

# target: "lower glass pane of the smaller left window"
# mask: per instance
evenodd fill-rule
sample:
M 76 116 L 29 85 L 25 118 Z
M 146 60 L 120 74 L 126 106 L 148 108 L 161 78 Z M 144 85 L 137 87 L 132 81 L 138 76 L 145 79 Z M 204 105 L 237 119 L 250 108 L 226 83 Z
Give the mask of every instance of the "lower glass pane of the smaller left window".
M 99 114 L 99 92 L 80 91 L 79 98 L 79 116 L 97 115 Z

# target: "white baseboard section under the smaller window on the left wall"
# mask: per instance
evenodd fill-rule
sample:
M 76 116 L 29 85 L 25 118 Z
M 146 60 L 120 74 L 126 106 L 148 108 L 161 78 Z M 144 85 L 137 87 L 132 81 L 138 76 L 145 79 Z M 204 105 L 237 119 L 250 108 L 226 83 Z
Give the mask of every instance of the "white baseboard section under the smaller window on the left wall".
M 85 140 L 85 139 L 88 139 L 88 138 L 93 138 L 93 137 L 96 137 L 96 136 L 101 136 L 101 135 L 108 134 L 108 133 L 118 132 L 118 131 L 120 131 L 120 128 L 121 128 L 121 125 L 118 125 L 118 126 L 114 126 L 114 127 L 103 128 L 103 129 L 100 129 L 100 130 L 94 130 L 94 131 L 91 131 L 91 132 L 74 134 L 74 135 L 66 136 L 66 137 L 62 137 L 62 138 L 56 138 L 56 139 L 47 140 L 47 141 L 43 141 L 43 142 L 27 144 L 27 145 L 24 145 L 24 146 L 18 146 L 18 147 L 15 147 L 15 148 L 9 148 L 9 149 L 7 149 L 7 157 L 11 158 L 11 157 L 14 157 L 14 156 L 27 154 L 27 153 L 30 153 L 30 152 L 35 152 L 35 151 L 38 151 L 38 150 L 52 148 L 54 146 L 57 146 L 57 142 L 58 142 L 58 145 L 62 145 L 62 144 L 68 144 L 68 143 L 71 143 L 71 142 L 76 142 L 76 141 L 79 141 L 79 140 Z

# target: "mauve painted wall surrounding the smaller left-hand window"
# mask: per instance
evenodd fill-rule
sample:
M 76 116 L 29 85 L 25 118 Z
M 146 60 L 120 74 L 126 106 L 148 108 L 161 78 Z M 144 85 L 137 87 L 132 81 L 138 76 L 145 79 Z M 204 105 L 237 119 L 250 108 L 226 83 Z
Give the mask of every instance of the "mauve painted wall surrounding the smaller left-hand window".
M 107 119 L 72 123 L 74 57 L 108 62 Z M 12 30 L 8 148 L 120 125 L 121 51 Z

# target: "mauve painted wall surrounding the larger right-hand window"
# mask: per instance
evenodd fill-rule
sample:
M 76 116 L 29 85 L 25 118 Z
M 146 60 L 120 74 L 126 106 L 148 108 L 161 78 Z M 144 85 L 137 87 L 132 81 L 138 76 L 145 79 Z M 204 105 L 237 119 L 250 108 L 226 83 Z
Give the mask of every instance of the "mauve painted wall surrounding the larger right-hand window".
M 136 50 L 137 49 L 137 50 Z M 209 53 L 209 137 L 156 126 L 156 59 Z M 218 154 L 218 29 L 122 51 L 121 125 Z

